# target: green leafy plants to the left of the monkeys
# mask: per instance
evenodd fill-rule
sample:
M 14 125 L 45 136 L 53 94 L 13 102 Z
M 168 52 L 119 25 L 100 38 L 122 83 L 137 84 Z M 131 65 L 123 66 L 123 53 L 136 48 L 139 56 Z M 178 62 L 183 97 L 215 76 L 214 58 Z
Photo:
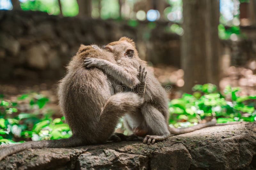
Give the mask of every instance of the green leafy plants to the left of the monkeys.
M 45 109 L 49 99 L 40 94 L 23 94 L 15 102 L 0 98 L 0 144 L 43 139 L 69 138 L 72 135 L 64 117 L 52 119 L 52 112 Z M 20 112 L 20 107 L 28 112 Z M 21 141 L 20 141 L 21 140 Z

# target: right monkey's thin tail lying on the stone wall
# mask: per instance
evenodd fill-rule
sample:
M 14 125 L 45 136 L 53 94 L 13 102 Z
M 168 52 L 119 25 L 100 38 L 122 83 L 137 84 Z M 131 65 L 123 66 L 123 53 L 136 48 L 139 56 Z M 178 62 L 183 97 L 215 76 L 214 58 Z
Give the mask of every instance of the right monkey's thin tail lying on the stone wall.
M 214 126 L 215 124 L 216 124 L 216 119 L 212 119 L 212 121 L 210 121 L 210 122 L 203 123 L 203 124 L 197 124 L 195 126 L 190 126 L 190 127 L 186 127 L 186 128 L 171 128 L 170 127 L 169 131 L 170 131 L 171 135 L 180 135 L 183 133 L 196 131 L 198 129 L 202 129 L 205 127 Z

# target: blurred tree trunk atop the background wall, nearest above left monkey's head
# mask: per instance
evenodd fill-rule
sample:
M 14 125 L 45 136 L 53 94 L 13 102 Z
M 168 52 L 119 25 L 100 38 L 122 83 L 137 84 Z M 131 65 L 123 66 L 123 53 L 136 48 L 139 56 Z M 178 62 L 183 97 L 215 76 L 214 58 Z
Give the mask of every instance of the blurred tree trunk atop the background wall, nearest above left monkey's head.
M 92 1 L 91 0 L 77 0 L 79 8 L 79 16 L 92 17 Z

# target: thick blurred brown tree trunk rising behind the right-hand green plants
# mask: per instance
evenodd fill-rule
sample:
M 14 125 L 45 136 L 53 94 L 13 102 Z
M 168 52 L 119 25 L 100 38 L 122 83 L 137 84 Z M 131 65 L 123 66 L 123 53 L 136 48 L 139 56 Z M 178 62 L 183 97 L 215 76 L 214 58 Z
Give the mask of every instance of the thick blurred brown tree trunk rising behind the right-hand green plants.
M 219 85 L 219 0 L 183 1 L 181 67 L 184 70 L 184 91 L 195 84 Z

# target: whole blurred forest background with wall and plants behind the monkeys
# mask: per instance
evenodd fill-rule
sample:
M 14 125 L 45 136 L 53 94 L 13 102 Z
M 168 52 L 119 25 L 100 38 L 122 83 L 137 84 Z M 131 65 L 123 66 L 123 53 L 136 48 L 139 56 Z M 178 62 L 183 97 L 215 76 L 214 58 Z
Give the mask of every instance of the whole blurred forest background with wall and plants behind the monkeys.
M 56 84 L 70 58 L 122 36 L 171 85 L 170 124 L 256 121 L 256 0 L 0 0 L 0 23 L 2 131 L 61 124 Z

